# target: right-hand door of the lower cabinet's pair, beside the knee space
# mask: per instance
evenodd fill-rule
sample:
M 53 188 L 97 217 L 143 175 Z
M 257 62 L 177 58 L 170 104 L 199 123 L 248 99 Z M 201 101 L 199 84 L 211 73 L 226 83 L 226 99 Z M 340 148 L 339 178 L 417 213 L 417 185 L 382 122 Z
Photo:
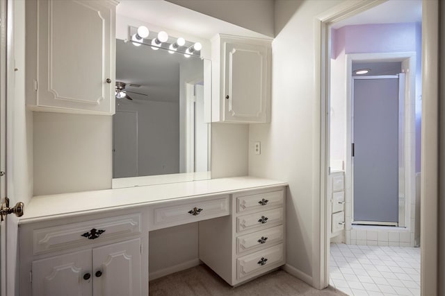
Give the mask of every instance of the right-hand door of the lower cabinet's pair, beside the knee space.
M 140 238 L 92 250 L 95 296 L 140 296 Z

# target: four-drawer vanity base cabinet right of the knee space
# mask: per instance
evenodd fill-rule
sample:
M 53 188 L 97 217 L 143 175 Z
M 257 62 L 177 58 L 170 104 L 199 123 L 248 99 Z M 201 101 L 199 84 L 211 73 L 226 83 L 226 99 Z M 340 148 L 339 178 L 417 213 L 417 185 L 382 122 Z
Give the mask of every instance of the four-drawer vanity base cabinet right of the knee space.
M 284 265 L 284 204 L 284 187 L 232 194 L 231 216 L 200 222 L 201 261 L 232 286 Z

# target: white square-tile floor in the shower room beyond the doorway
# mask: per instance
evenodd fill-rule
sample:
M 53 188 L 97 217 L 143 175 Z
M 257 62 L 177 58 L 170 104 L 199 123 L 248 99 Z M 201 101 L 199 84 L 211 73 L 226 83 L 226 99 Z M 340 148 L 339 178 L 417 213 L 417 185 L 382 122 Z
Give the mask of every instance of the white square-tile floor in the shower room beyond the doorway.
M 331 243 L 330 284 L 351 296 L 420 295 L 420 248 Z

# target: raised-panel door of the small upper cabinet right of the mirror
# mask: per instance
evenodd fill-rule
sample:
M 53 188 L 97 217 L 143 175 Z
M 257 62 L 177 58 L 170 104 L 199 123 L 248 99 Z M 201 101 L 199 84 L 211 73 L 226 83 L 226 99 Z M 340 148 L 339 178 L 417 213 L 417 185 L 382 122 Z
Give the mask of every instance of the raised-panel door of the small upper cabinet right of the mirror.
M 268 48 L 225 43 L 224 120 L 266 122 Z

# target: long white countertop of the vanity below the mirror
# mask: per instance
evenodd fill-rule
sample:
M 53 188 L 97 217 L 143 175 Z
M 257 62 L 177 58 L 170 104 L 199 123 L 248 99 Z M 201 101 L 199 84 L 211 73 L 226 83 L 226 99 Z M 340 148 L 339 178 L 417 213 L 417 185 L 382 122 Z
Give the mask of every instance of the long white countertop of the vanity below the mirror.
M 233 193 L 249 189 L 286 186 L 286 182 L 257 177 L 229 177 L 212 180 L 136 186 L 130 188 L 84 191 L 35 196 L 24 208 L 19 224 L 51 220 L 66 216 L 80 216 L 102 211 L 140 207 L 202 195 Z

